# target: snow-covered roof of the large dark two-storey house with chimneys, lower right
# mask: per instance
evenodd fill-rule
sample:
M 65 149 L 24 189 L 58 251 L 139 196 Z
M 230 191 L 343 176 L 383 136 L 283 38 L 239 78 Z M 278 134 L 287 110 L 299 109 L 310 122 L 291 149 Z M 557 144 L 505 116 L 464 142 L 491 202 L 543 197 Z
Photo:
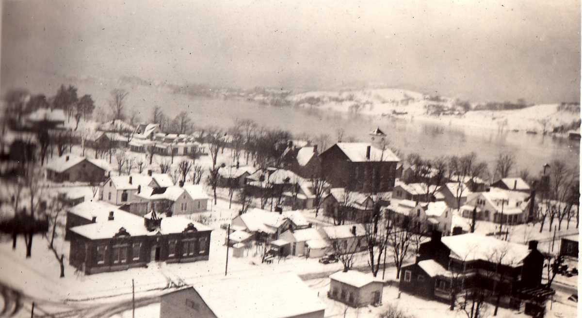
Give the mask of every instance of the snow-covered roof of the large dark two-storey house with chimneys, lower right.
M 450 257 L 464 261 L 501 259 L 503 265 L 517 266 L 530 253 L 526 245 L 475 233 L 443 237 L 441 241 L 450 249 Z

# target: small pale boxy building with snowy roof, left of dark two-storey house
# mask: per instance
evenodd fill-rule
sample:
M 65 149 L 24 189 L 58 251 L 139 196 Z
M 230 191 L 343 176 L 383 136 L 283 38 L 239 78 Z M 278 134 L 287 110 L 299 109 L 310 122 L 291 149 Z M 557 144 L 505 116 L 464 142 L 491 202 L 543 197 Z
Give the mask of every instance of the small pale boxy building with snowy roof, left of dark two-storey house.
M 381 305 L 384 283 L 371 273 L 338 271 L 329 276 L 328 297 L 352 307 Z

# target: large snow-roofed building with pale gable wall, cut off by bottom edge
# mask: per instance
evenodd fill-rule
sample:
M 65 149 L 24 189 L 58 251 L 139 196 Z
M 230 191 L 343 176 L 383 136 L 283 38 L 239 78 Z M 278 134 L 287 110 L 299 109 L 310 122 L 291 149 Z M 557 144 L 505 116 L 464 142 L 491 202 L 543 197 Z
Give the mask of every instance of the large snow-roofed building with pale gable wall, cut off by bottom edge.
M 323 318 L 325 305 L 293 273 L 261 273 L 198 281 L 162 295 L 160 318 Z

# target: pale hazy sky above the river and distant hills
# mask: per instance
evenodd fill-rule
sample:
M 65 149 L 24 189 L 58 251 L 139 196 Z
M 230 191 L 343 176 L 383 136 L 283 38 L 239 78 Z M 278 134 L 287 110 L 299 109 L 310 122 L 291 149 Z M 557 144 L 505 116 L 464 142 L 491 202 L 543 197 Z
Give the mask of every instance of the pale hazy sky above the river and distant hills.
M 580 16 L 574 0 L 5 1 L 0 86 L 137 76 L 579 101 Z

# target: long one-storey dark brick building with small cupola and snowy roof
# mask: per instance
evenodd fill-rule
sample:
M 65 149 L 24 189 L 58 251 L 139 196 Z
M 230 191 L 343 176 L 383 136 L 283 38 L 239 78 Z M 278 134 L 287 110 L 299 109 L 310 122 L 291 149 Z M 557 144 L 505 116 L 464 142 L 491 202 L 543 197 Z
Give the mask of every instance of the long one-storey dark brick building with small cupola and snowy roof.
M 149 262 L 208 260 L 212 229 L 180 216 L 143 217 L 107 203 L 83 202 L 67 214 L 69 263 L 85 274 Z

